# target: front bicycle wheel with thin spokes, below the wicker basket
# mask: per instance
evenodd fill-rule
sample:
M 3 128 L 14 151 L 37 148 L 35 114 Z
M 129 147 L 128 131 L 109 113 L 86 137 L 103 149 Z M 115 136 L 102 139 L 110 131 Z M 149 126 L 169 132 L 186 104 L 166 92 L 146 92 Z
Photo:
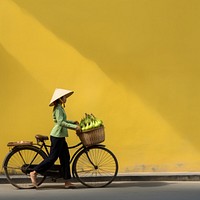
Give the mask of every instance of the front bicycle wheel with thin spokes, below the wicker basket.
M 73 163 L 73 173 L 87 187 L 105 187 L 118 173 L 115 155 L 102 146 L 82 150 Z

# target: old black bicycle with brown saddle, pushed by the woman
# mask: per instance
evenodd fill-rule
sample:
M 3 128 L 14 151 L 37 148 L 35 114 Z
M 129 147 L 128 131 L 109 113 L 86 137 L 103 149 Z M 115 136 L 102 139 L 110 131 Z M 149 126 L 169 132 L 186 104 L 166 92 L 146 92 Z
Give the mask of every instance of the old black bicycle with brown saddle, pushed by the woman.
M 7 145 L 10 152 L 4 159 L 3 169 L 7 180 L 16 188 L 34 188 L 28 176 L 32 169 L 49 155 L 50 145 L 45 142 L 48 136 L 36 135 L 35 138 L 37 143 L 21 141 L 9 142 Z M 72 175 L 86 187 L 105 187 L 117 176 L 117 158 L 105 145 L 85 146 L 80 142 L 68 148 L 78 148 L 70 159 Z M 60 173 L 60 164 L 54 164 L 44 174 L 38 174 L 38 186 L 46 177 L 56 181 L 60 178 Z

